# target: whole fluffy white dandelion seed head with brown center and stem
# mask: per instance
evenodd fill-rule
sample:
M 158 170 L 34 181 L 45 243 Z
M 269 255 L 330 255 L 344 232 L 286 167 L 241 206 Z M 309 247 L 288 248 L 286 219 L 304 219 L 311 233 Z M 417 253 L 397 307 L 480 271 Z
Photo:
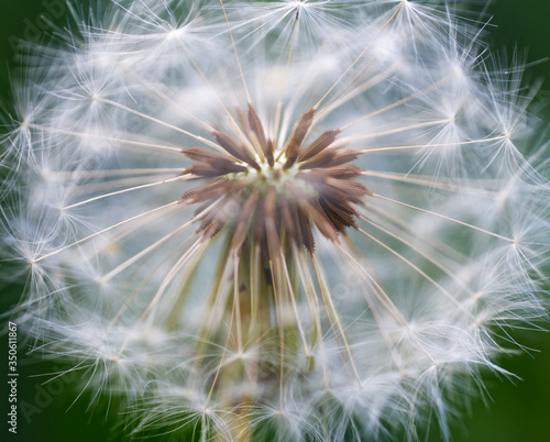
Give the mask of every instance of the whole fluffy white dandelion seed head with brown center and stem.
M 536 90 L 461 14 L 113 0 L 31 48 L 2 223 L 36 351 L 130 435 L 450 438 L 550 237 Z

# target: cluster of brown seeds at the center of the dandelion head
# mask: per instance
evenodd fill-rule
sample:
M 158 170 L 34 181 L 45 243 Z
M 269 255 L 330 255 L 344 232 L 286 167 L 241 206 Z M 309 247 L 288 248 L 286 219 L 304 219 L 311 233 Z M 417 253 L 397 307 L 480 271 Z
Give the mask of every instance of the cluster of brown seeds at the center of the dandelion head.
M 339 130 L 324 132 L 304 148 L 314 118 L 314 109 L 300 117 L 278 157 L 251 104 L 246 115 L 240 113 L 243 135 L 212 133 L 224 153 L 183 150 L 196 162 L 184 174 L 206 179 L 183 196 L 188 203 L 200 203 L 198 231 L 211 237 L 228 229 L 233 250 L 253 241 L 270 254 L 270 237 L 280 239 L 285 250 L 296 245 L 312 252 L 314 224 L 331 241 L 355 226 L 353 205 L 371 194 L 355 180 L 361 169 L 348 164 L 359 153 L 333 146 Z

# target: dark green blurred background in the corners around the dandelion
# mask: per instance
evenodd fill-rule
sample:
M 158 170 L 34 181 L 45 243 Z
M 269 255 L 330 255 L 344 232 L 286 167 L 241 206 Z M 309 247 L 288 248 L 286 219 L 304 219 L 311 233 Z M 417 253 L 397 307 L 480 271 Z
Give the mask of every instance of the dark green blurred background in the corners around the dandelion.
M 190 0 L 189 0 L 190 1 Z M 79 5 L 86 1 L 75 0 Z M 18 37 L 34 40 L 42 34 L 40 25 L 47 27 L 41 14 L 57 15 L 61 0 L 2 0 L 0 15 L 0 103 L 10 108 L 10 77 L 9 73 L 18 66 L 14 57 L 14 46 Z M 474 1 L 472 8 L 483 9 L 483 1 Z M 550 99 L 550 2 L 543 0 L 497 0 L 488 5 L 488 13 L 493 15 L 490 26 L 490 42 L 493 51 L 503 49 L 508 55 L 517 47 L 520 54 L 527 52 L 527 59 L 532 63 L 527 78 L 532 82 L 544 79 L 540 101 Z M 67 13 L 68 10 L 64 10 Z M 65 16 L 56 19 L 62 26 L 68 22 Z M 36 34 L 38 30 L 38 34 Z M 540 62 L 540 63 L 537 63 Z M 550 121 L 548 107 L 541 113 L 546 121 Z M 0 264 L 1 265 L 1 264 Z M 8 272 L 0 267 L 0 272 Z M 4 278 L 0 278 L 2 280 Z M 12 303 L 21 287 L 1 285 L 0 306 L 6 311 Z M 6 321 L 2 321 L 6 322 Z M 2 323 L 2 328 L 7 325 Z M 21 336 L 21 335 L 20 335 Z M 455 441 L 472 442 L 547 442 L 550 441 L 550 333 L 519 333 L 517 340 L 530 349 L 530 354 L 524 353 L 509 360 L 501 361 L 509 372 L 518 375 L 522 380 L 514 383 L 486 376 L 487 393 L 484 398 L 474 401 L 471 410 L 463 410 L 455 419 L 452 437 Z M 0 338 L 2 366 L 7 356 L 7 336 Z M 540 351 L 540 352 L 539 352 Z M 18 434 L 7 431 L 6 413 L 8 412 L 8 394 L 0 396 L 0 440 L 2 441 L 34 441 L 34 442 L 87 442 L 118 440 L 111 435 L 110 428 L 116 422 L 106 421 L 105 410 L 87 411 L 88 400 L 81 398 L 72 405 L 75 391 L 72 385 L 78 384 L 75 379 L 65 379 L 54 384 L 42 383 L 47 376 L 41 374 L 59 369 L 47 363 L 36 363 L 24 355 L 24 347 L 19 352 L 19 400 L 30 406 L 38 404 L 37 408 L 28 409 L 31 422 L 28 423 L 20 411 Z M 4 368 L 0 373 L 6 373 Z M 77 377 L 75 375 L 75 377 Z M 2 375 L 1 385 L 6 386 Z M 3 390 L 3 388 L 2 388 Z M 113 433 L 114 434 L 114 433 Z M 439 434 L 429 435 L 429 441 L 440 440 Z

